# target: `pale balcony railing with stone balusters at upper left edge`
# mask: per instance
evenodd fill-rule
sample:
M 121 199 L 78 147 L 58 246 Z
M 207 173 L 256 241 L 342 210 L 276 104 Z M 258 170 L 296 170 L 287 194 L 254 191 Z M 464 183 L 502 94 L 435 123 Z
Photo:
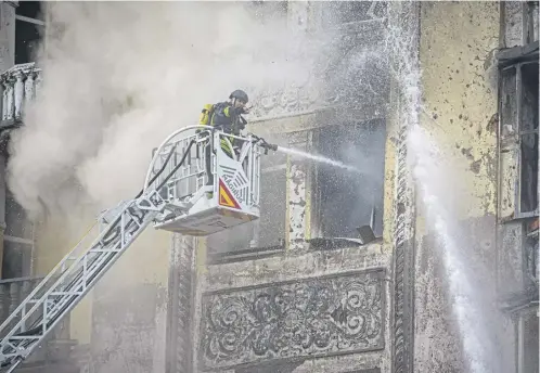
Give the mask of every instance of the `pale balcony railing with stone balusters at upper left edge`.
M 2 124 L 21 121 L 24 108 L 39 91 L 41 69 L 34 62 L 15 65 L 0 75 Z

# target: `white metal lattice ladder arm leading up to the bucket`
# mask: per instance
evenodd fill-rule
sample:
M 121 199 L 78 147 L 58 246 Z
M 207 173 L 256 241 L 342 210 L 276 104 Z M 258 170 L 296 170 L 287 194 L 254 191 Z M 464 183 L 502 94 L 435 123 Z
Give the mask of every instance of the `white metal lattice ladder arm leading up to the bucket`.
M 88 249 L 80 253 L 81 245 L 77 245 L 56 265 L 0 325 L 0 372 L 12 372 L 43 342 L 153 221 L 163 205 L 156 191 L 128 201 Z

